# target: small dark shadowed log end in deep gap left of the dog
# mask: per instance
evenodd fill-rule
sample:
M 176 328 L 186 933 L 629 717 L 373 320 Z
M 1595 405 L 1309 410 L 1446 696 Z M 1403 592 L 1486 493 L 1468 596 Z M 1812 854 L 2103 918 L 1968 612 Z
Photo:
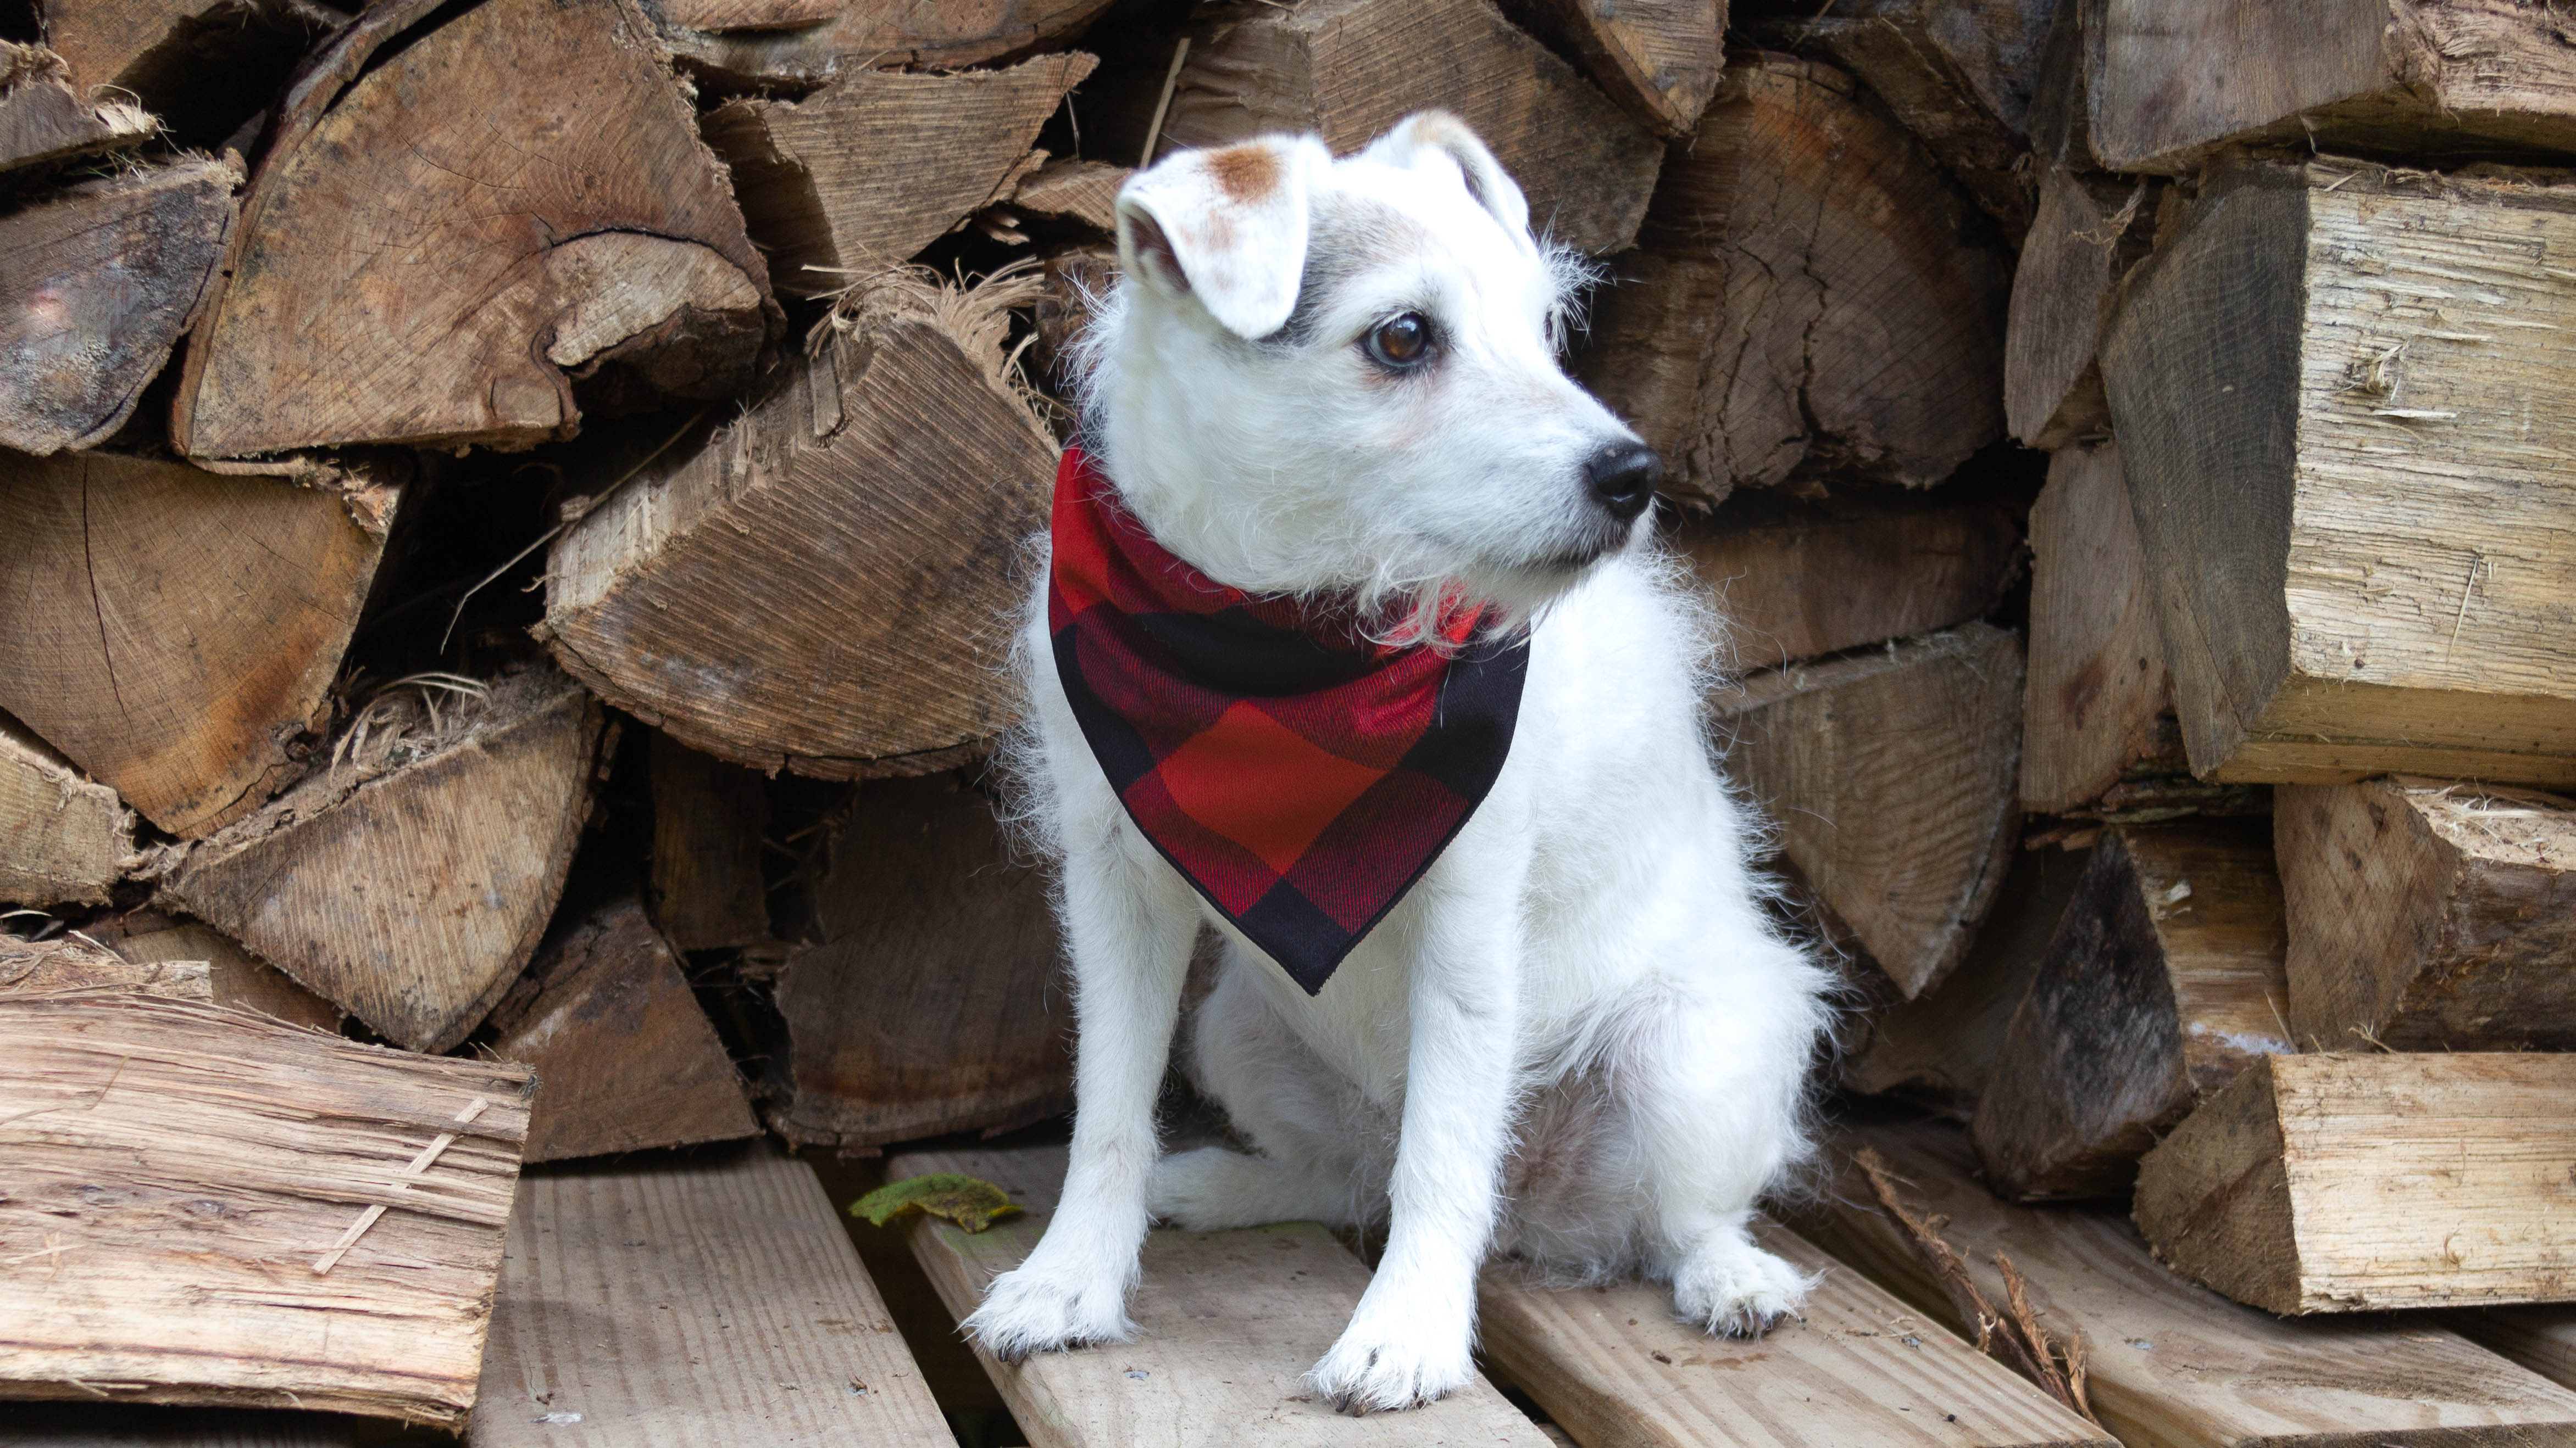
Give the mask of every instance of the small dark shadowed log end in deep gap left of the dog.
M 670 948 L 729 951 L 770 938 L 760 832 L 770 794 L 747 768 L 652 737 L 652 917 Z

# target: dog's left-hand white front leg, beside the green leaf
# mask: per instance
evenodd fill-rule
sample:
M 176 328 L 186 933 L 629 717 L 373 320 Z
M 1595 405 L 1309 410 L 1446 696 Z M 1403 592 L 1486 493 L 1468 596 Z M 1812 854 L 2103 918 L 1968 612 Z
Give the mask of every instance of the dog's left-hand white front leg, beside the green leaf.
M 1103 830 L 1064 861 L 1064 933 L 1079 1020 L 1064 1196 L 1038 1250 L 994 1278 L 963 1324 L 1005 1363 L 1136 1332 L 1126 1293 L 1149 1224 L 1154 1098 L 1198 912 L 1151 850 Z

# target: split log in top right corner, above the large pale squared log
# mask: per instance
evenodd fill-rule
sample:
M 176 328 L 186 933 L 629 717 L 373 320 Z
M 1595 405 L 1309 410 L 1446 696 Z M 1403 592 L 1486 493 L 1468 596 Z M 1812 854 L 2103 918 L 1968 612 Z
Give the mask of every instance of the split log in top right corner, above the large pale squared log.
M 2184 175 L 2223 144 L 2478 157 L 2576 152 L 2576 52 L 2514 0 L 2084 0 L 2087 129 L 2107 170 Z

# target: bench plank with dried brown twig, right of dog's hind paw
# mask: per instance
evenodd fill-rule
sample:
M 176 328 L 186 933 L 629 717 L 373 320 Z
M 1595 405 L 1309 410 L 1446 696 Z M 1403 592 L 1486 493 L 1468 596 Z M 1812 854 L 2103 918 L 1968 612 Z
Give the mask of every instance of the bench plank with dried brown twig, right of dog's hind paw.
M 2156 1448 L 2535 1448 L 2576 1438 L 2576 1391 L 2527 1373 L 2432 1322 L 2280 1322 L 2195 1288 L 2148 1255 L 2117 1208 L 2007 1206 L 1971 1177 L 1960 1131 L 1862 1126 L 1832 1147 L 1834 1190 L 1795 1224 L 1953 1329 L 1973 1332 L 1904 1232 L 1850 1167 L 1875 1149 L 1909 1208 L 1945 1216 L 1991 1301 L 1994 1252 L 2030 1278 L 2030 1301 L 2084 1342 L 2094 1415 L 2123 1443 Z

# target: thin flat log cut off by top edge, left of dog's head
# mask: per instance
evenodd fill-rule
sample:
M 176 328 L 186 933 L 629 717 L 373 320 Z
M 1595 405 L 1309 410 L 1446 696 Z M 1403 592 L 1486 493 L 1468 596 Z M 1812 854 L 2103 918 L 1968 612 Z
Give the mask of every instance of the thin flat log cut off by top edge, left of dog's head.
M 729 88 L 814 88 L 840 75 L 992 64 L 1082 36 L 1108 0 L 657 0 L 680 64 Z

